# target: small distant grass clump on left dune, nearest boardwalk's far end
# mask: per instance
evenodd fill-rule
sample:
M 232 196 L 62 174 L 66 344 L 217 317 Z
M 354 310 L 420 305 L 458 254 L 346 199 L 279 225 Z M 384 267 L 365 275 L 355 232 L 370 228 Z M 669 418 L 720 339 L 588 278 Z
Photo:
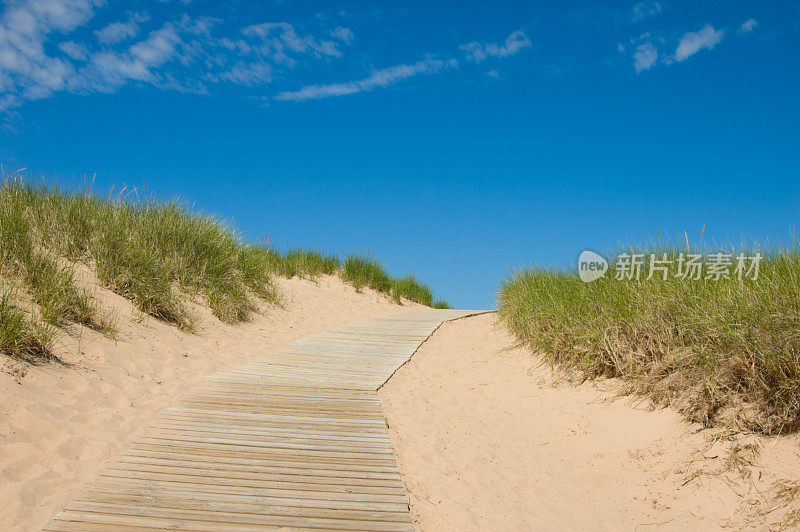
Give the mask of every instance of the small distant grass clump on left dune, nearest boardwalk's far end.
M 413 274 L 404 277 L 392 277 L 383 265 L 373 256 L 350 255 L 345 259 L 339 271 L 341 278 L 356 290 L 369 287 L 375 291 L 391 295 L 398 303 L 401 298 L 422 305 L 433 306 L 433 291 L 419 282 Z M 450 308 L 444 300 L 437 300 L 435 308 Z

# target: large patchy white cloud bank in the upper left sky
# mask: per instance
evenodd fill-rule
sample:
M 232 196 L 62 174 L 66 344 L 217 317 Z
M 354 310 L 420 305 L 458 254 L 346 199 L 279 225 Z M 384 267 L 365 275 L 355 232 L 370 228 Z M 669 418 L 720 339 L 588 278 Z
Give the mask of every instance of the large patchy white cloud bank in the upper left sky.
M 143 32 L 146 13 L 90 31 L 96 40 L 76 38 L 80 34 L 73 31 L 89 26 L 104 5 L 105 0 L 6 4 L 0 12 L 0 112 L 54 92 L 114 92 L 128 83 L 201 93 L 208 92 L 207 84 L 265 85 L 276 69 L 291 69 L 301 57 L 340 57 L 355 39 L 342 26 L 318 37 L 287 22 L 216 37 L 219 21 L 186 14 Z

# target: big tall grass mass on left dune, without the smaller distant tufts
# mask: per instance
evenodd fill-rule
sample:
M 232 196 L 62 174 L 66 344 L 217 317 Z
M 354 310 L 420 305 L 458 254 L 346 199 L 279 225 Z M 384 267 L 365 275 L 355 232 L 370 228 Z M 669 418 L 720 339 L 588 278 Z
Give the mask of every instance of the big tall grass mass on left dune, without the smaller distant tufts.
M 101 283 L 143 312 L 188 328 L 186 295 L 205 298 L 226 322 L 247 318 L 251 293 L 277 296 L 266 258 L 217 218 L 177 202 L 104 200 L 6 181 L 0 222 L 3 273 L 23 280 L 50 323 L 110 326 L 58 257 L 91 264 Z

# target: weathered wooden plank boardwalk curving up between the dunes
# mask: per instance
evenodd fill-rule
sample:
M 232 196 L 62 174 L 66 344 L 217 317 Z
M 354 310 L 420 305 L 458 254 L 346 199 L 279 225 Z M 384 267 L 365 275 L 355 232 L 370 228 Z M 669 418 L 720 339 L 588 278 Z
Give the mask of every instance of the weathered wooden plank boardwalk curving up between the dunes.
M 45 530 L 413 530 L 376 391 L 476 313 L 355 323 L 207 378 Z

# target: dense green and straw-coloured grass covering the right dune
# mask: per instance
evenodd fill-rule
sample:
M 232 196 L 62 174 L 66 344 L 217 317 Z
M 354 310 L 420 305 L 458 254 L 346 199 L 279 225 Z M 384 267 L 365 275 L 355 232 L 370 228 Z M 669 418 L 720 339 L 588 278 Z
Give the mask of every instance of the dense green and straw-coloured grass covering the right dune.
M 706 425 L 796 431 L 800 250 L 760 253 L 757 280 L 682 280 L 671 267 L 666 281 L 609 272 L 584 283 L 575 273 L 526 268 L 504 281 L 498 307 L 512 332 L 555 366 L 619 377 L 629 392 Z

